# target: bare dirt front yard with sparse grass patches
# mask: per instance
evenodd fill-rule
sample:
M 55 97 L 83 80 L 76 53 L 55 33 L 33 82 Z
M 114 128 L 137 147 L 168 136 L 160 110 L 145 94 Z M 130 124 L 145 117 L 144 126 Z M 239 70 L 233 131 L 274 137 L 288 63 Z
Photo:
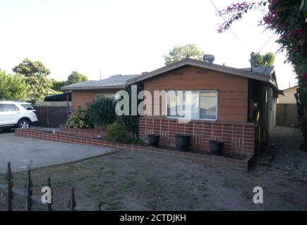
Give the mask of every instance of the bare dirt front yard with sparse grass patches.
M 32 171 L 35 195 L 52 178 L 54 204 L 66 207 L 76 188 L 77 210 L 307 210 L 307 154 L 299 150 L 299 129 L 276 127 L 270 166 L 250 172 L 215 167 L 167 155 L 123 151 L 70 165 Z M 14 174 L 23 188 L 25 172 Z M 1 175 L 0 183 L 5 184 Z M 253 203 L 263 187 L 264 203 Z M 0 196 L 0 210 L 5 198 Z M 20 207 L 16 207 L 16 210 Z

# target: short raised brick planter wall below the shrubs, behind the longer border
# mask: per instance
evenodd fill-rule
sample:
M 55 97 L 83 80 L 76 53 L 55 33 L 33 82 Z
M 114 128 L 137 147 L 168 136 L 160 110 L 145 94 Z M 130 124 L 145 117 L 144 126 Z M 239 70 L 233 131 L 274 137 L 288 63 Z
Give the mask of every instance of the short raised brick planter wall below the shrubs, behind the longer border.
M 88 138 L 97 138 L 98 135 L 106 136 L 107 131 L 104 129 L 81 129 L 81 128 L 70 128 L 65 125 L 60 126 L 62 134 L 71 136 L 83 136 Z

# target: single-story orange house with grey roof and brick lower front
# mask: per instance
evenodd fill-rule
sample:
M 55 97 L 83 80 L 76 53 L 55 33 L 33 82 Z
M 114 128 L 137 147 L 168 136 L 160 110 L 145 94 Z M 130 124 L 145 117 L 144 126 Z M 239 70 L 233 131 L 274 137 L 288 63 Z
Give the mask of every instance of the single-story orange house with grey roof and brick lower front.
M 267 142 L 276 122 L 276 103 L 280 91 L 274 67 L 237 69 L 186 58 L 142 75 L 116 75 L 97 82 L 64 86 L 72 91 L 73 108 L 83 106 L 100 94 L 114 94 L 126 85 L 137 84 L 152 92 L 165 91 L 159 112 L 140 117 L 140 138 L 160 134 L 161 143 L 174 146 L 174 134 L 191 134 L 192 148 L 209 150 L 210 140 L 224 141 L 229 153 L 253 155 L 255 142 Z M 179 122 L 184 97 L 174 91 L 191 91 L 192 120 Z M 155 103 L 152 102 L 152 110 Z

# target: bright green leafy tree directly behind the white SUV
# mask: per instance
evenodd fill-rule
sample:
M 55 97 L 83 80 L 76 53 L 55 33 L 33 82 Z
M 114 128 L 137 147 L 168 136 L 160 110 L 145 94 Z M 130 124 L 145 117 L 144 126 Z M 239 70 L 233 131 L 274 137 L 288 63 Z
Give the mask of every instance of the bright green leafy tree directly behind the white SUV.
M 7 75 L 0 70 L 0 100 L 28 99 L 28 84 L 25 83 L 21 75 Z

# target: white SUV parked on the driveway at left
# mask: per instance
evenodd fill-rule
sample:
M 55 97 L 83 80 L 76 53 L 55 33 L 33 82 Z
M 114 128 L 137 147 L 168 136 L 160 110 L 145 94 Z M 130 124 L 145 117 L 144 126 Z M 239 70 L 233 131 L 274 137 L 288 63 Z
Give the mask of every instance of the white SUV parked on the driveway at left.
M 34 107 L 24 101 L 0 101 L 0 129 L 28 129 L 32 122 L 37 122 L 35 112 Z

